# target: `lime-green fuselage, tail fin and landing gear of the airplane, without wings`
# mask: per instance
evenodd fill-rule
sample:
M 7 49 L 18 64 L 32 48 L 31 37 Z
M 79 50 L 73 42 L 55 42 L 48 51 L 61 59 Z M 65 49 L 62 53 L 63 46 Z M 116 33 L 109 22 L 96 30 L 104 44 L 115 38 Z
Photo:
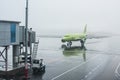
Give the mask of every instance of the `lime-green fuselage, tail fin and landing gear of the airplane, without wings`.
M 61 39 L 61 42 L 67 42 L 67 47 L 70 48 L 72 45 L 72 41 L 80 41 L 81 47 L 84 47 L 85 41 L 87 39 L 87 24 L 84 27 L 84 31 L 82 33 L 74 33 L 74 34 L 66 34 Z

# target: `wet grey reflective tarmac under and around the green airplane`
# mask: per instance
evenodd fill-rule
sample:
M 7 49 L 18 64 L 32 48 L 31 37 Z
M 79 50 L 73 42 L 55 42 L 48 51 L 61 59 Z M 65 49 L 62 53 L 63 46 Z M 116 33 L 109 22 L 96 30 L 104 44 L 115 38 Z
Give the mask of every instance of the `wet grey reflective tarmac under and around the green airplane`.
M 46 71 L 31 80 L 120 80 L 119 36 L 88 39 L 86 48 L 74 42 L 70 50 L 61 48 L 60 38 L 39 39 L 37 58 L 44 59 Z

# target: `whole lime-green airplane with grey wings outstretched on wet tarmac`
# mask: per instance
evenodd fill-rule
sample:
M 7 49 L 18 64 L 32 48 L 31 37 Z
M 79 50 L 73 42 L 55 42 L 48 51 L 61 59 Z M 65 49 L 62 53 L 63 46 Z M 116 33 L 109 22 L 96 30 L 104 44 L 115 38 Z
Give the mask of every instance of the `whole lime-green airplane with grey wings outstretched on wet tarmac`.
M 72 49 L 73 41 L 80 41 L 81 47 L 85 47 L 86 39 L 101 39 L 108 38 L 113 36 L 113 34 L 105 33 L 105 32 L 87 32 L 87 24 L 84 27 L 84 31 L 82 33 L 73 33 L 66 35 L 38 35 L 37 37 L 43 38 L 61 38 L 62 43 L 67 43 L 67 45 L 62 44 L 62 48 L 64 49 Z

